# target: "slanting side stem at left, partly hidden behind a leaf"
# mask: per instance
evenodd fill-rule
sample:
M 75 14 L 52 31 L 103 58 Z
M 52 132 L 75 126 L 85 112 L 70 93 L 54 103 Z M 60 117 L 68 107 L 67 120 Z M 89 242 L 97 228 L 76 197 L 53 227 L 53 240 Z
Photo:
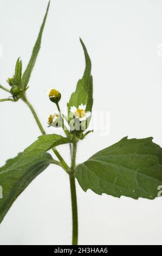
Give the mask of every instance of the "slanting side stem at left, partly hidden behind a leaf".
M 41 133 L 42 133 L 43 135 L 46 135 L 46 132 L 45 132 L 44 129 L 43 129 L 43 126 L 42 126 L 42 124 L 41 124 L 41 122 L 40 122 L 40 119 L 38 118 L 38 116 L 37 116 L 37 114 L 36 114 L 36 112 L 35 112 L 35 110 L 34 110 L 34 107 L 31 105 L 31 103 L 28 101 L 28 99 L 27 99 L 27 97 L 26 97 L 25 95 L 22 97 L 22 100 L 23 100 L 23 101 L 27 104 L 27 106 L 30 108 L 30 111 L 31 111 L 31 113 L 32 113 L 33 116 L 34 116 L 34 118 L 35 118 L 35 120 L 36 120 L 36 123 L 37 123 L 38 127 L 40 128 Z M 66 170 L 66 172 L 69 172 L 68 164 L 63 160 L 62 156 L 61 156 L 60 153 L 57 151 L 57 149 L 56 149 L 56 148 L 53 148 L 52 150 L 53 150 L 53 152 L 55 153 L 55 155 L 57 156 L 57 158 L 60 160 L 63 169 Z

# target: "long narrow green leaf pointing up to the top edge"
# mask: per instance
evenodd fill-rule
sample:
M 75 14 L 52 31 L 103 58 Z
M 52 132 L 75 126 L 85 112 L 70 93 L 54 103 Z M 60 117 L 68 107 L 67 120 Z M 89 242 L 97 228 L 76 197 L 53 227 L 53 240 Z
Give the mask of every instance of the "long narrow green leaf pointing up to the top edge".
M 24 74 L 23 74 L 23 76 L 22 76 L 22 86 L 23 86 L 24 88 L 26 88 L 27 85 L 28 85 L 28 82 L 29 82 L 29 79 L 30 79 L 30 75 L 31 75 L 31 72 L 32 72 L 32 70 L 33 70 L 33 68 L 34 68 L 34 65 L 35 65 L 35 62 L 36 62 L 36 58 L 37 58 L 38 52 L 40 51 L 42 33 L 43 33 L 44 25 L 45 25 L 46 19 L 47 19 L 47 14 L 48 14 L 48 10 L 49 10 L 49 4 L 50 4 L 50 1 L 49 1 L 49 3 L 48 3 L 47 10 L 46 10 L 46 14 L 45 14 L 45 16 L 44 16 L 43 23 L 42 23 L 42 25 L 41 25 L 40 32 L 39 32 L 39 34 L 38 34 L 38 37 L 37 37 L 35 46 L 34 46 L 34 48 L 33 48 L 33 52 L 32 52 L 32 54 L 31 54 L 31 58 L 30 58 L 30 60 L 29 60 L 27 69 L 24 71 Z

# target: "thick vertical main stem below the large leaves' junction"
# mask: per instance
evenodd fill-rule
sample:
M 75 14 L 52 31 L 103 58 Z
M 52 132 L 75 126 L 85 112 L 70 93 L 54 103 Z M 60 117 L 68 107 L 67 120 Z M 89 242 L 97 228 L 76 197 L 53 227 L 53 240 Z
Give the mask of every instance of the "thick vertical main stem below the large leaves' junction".
M 73 237 L 72 245 L 77 245 L 78 237 L 78 224 L 77 224 L 77 199 L 76 199 L 76 186 L 74 174 L 69 174 L 70 179 L 70 191 L 71 191 L 71 200 L 72 200 L 72 216 L 73 216 Z

